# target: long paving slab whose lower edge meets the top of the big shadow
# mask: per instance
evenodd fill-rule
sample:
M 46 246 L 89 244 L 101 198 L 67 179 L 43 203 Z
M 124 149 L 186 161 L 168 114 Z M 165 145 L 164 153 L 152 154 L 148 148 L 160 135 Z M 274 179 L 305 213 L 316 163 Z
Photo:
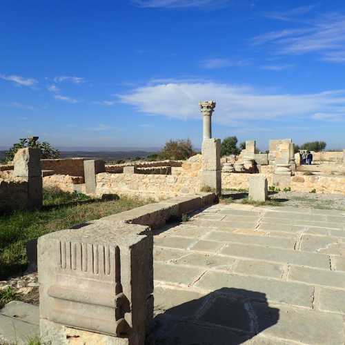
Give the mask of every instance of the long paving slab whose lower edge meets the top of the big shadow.
M 259 294 L 268 302 L 280 302 L 307 308 L 312 307 L 314 293 L 313 286 L 305 284 L 215 271 L 206 272 L 195 286 L 211 291 L 224 287 L 244 289 L 246 297 L 258 298 Z

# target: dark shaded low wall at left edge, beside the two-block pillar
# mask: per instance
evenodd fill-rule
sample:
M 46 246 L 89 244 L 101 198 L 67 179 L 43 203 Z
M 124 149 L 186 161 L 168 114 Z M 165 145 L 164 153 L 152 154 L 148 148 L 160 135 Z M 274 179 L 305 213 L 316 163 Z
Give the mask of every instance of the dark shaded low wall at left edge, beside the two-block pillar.
M 28 206 L 28 180 L 21 177 L 0 179 L 0 212 Z

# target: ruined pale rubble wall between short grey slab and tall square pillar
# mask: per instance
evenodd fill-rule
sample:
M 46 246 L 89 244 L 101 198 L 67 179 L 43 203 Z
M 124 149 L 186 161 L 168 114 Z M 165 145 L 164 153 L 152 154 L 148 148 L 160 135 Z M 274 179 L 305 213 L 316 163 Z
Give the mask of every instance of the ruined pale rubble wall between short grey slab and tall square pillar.
M 173 167 L 172 175 L 102 172 L 96 177 L 96 194 L 115 193 L 155 200 L 194 194 L 200 190 L 200 169 L 200 163 L 186 161 L 181 167 Z

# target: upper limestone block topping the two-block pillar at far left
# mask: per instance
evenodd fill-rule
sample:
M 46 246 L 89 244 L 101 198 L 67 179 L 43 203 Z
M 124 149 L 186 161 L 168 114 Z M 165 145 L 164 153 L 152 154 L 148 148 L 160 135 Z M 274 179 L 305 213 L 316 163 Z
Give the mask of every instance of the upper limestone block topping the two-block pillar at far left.
M 40 155 L 39 148 L 20 148 L 14 155 L 13 176 L 40 177 L 42 173 Z

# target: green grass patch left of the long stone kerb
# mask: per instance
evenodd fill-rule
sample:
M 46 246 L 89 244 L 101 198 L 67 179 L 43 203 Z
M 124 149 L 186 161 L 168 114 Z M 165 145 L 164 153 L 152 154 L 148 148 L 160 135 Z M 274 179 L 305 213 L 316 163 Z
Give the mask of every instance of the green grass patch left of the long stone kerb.
M 0 280 L 26 269 L 28 240 L 147 203 L 126 197 L 101 201 L 81 193 L 44 190 L 41 210 L 17 210 L 0 215 Z

